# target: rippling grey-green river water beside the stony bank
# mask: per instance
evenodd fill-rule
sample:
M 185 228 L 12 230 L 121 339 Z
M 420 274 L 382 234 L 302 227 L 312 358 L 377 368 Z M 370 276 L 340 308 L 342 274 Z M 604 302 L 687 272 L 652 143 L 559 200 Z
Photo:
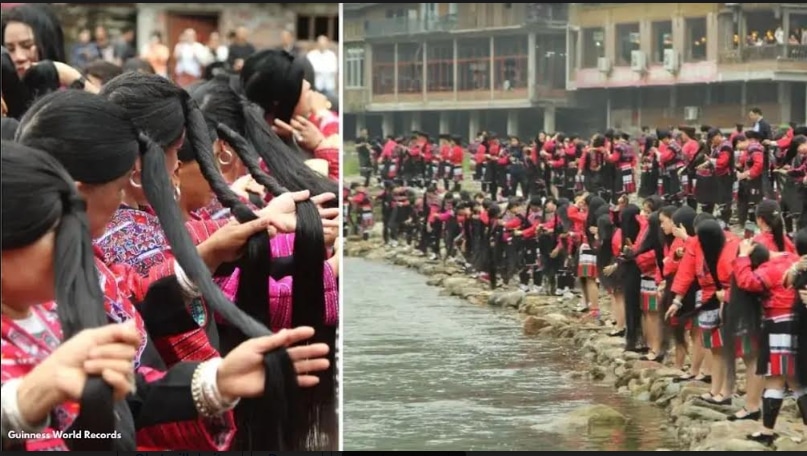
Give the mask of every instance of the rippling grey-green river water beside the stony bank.
M 563 378 L 580 367 L 568 341 L 526 338 L 513 312 L 439 296 L 405 268 L 345 258 L 344 270 L 345 450 L 676 449 L 662 410 Z M 631 421 L 550 431 L 589 404 Z

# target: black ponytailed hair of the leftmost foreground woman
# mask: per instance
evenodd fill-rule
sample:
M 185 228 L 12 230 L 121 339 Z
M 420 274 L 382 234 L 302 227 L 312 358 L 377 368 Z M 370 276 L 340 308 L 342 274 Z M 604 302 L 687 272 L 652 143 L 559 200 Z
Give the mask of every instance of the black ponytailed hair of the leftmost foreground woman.
M 108 323 L 104 294 L 95 270 L 86 205 L 75 183 L 50 155 L 11 142 L 2 142 L 2 249 L 29 246 L 55 227 L 53 252 L 56 311 L 63 340 L 79 331 Z M 112 389 L 100 378 L 84 386 L 76 424 L 91 432 L 116 429 Z M 122 420 L 122 423 L 126 422 Z M 121 425 L 122 425 L 121 423 Z M 133 433 L 133 429 L 129 429 Z M 112 450 L 111 440 L 67 440 L 72 450 Z M 118 446 L 123 442 L 118 442 Z M 130 443 L 134 450 L 134 442 Z M 125 444 L 124 444 L 125 445 Z M 123 448 L 118 448 L 123 449 Z

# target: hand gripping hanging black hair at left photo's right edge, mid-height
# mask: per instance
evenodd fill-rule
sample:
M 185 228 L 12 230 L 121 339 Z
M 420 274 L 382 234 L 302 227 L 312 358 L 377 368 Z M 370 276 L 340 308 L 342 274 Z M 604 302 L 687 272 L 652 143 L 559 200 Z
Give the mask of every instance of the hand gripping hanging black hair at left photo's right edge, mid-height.
M 309 199 L 311 192 L 286 192 L 272 198 L 269 204 L 257 212 L 260 217 L 268 217 L 270 224 L 282 233 L 293 233 L 297 229 L 297 203 Z M 323 208 L 322 205 L 336 199 L 333 193 L 323 193 L 310 198 L 317 205 L 323 228 L 339 228 L 341 221 L 339 208 Z

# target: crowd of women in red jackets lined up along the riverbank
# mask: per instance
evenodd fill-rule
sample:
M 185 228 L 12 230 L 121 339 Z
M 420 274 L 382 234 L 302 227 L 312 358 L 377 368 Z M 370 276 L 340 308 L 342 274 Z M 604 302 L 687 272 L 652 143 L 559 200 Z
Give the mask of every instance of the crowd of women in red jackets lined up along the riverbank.
M 600 324 L 610 297 L 609 335 L 642 359 L 669 358 L 676 382 L 708 383 L 699 401 L 731 405 L 742 360 L 744 407 L 727 418 L 761 421 L 748 438 L 770 444 L 787 395 L 807 424 L 805 134 L 683 126 L 523 144 L 480 133 L 475 195 L 446 183 L 419 196 L 379 168 L 383 233 L 491 288 L 515 279 L 571 298 L 579 283 L 575 310 Z M 351 202 L 369 226 L 361 183 Z

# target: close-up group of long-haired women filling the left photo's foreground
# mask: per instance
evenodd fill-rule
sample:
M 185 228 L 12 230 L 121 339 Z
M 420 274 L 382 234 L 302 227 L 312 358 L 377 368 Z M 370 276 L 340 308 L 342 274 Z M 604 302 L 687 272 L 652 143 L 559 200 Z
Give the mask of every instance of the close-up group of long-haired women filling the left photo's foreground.
M 340 139 L 303 65 L 99 87 L 47 7 L 2 35 L 3 449 L 336 449 Z

